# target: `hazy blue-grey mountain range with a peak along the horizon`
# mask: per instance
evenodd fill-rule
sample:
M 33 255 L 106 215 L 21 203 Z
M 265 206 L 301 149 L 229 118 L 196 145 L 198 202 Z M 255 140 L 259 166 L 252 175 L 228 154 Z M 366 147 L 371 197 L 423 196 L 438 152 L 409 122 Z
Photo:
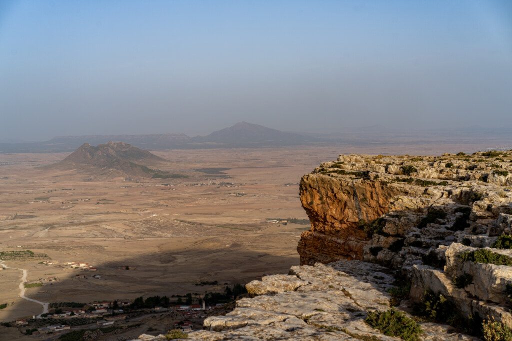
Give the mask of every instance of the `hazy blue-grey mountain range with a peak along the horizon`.
M 84 143 L 100 145 L 109 141 L 123 141 L 143 149 L 185 149 L 217 147 L 262 147 L 311 144 L 325 139 L 309 135 L 284 132 L 258 124 L 240 122 L 214 131 L 206 136 L 188 137 L 185 134 L 141 135 L 85 135 L 56 137 L 44 142 L 0 143 L 0 153 L 67 152 Z

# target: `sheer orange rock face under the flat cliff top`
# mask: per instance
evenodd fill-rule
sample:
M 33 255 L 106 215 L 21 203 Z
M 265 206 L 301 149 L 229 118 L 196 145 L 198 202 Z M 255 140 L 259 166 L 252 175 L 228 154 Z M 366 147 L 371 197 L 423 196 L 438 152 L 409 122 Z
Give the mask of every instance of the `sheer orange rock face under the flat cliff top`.
M 311 230 L 302 234 L 297 251 L 301 264 L 362 259 L 368 242 L 360 222 L 370 222 L 389 211 L 390 199 L 402 194 L 400 186 L 380 181 L 307 174 L 300 184 L 302 206 Z

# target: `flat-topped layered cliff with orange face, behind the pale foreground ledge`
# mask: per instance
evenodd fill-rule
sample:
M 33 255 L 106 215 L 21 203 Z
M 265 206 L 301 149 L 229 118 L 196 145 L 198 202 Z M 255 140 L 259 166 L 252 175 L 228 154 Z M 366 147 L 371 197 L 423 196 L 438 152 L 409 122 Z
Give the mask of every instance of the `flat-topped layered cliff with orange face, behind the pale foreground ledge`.
M 512 326 L 511 162 L 492 151 L 323 163 L 301 181 L 301 263 L 379 263 L 412 279 L 414 300 L 435 292 L 465 317 Z

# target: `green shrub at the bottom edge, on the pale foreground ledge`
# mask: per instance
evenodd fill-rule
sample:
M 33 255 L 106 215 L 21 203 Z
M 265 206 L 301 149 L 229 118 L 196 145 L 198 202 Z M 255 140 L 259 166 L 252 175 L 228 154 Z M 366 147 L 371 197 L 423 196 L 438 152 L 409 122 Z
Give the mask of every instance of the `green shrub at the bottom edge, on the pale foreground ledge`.
M 423 334 L 416 321 L 393 308 L 387 311 L 370 311 L 365 322 L 384 335 L 397 336 L 406 341 L 419 341 Z

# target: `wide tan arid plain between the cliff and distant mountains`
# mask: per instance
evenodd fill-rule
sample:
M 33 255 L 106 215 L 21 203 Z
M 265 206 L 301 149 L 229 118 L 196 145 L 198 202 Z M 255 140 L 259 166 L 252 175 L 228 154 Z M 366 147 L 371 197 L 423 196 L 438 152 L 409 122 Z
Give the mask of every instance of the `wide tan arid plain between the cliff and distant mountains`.
M 440 154 L 475 144 L 306 146 L 153 151 L 162 170 L 187 178 L 103 178 L 44 166 L 69 153 L 0 155 L 0 252 L 30 249 L 48 258 L 7 260 L 26 269 L 42 302 L 92 302 L 222 291 L 298 264 L 300 234 L 309 229 L 298 182 L 340 153 Z M 301 219 L 278 224 L 275 218 Z M 51 260 L 50 265 L 41 264 Z M 96 271 L 71 269 L 84 262 Z M 126 269 L 129 267 L 129 269 Z M 85 274 L 88 278 L 76 278 Z M 93 278 L 99 275 L 101 278 Z M 0 271 L 0 321 L 42 312 L 22 300 L 17 269 Z M 217 281 L 218 285 L 195 285 Z

